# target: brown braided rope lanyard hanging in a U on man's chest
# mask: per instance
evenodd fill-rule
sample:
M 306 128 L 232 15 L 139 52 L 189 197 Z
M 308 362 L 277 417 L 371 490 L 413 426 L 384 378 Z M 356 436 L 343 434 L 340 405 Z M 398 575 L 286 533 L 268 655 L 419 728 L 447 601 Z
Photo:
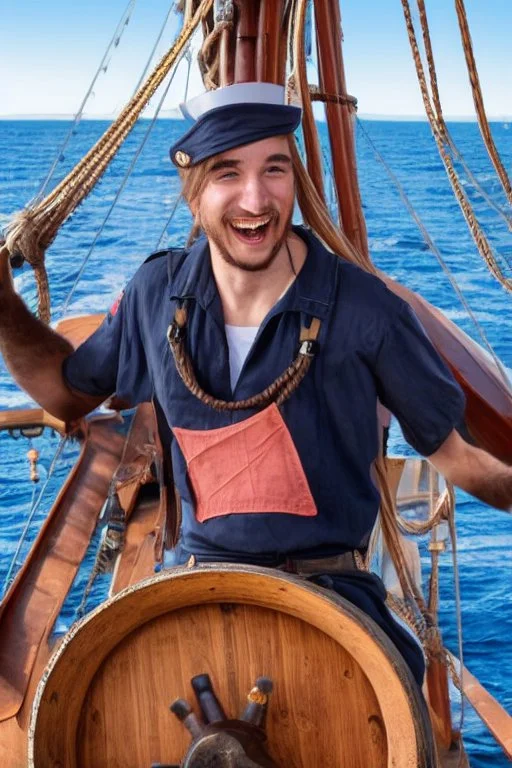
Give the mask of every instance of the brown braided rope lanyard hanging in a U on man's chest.
M 245 400 L 220 400 L 205 392 L 197 381 L 192 361 L 185 348 L 187 317 L 187 302 L 185 300 L 181 306 L 176 308 L 174 320 L 167 330 L 167 340 L 176 363 L 176 369 L 188 391 L 204 405 L 208 405 L 217 411 L 242 411 L 250 408 L 265 408 L 271 403 L 281 405 L 297 389 L 318 351 L 317 338 L 321 323 L 318 318 L 314 317 L 309 328 L 301 327 L 299 335 L 300 346 L 295 360 L 272 384 L 259 394 Z

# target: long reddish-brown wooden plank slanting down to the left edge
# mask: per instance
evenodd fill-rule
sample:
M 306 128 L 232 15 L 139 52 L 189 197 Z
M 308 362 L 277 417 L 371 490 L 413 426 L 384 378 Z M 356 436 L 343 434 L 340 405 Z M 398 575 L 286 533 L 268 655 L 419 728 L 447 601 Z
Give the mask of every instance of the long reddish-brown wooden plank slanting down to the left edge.
M 41 647 L 42 663 L 48 659 L 49 635 L 87 551 L 123 442 L 112 420 L 90 423 L 80 458 L 2 602 L 0 721 L 22 706 Z

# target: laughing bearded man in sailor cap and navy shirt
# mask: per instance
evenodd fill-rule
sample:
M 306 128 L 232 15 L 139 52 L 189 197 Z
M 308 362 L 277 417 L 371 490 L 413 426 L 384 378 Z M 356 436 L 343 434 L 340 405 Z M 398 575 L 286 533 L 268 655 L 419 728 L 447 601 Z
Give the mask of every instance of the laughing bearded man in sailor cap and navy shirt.
M 171 149 L 192 244 L 151 256 L 78 350 L 0 263 L 0 348 L 48 411 L 153 399 L 181 497 L 174 562 L 285 568 L 370 614 L 421 682 L 422 654 L 357 569 L 379 508 L 376 404 L 449 480 L 502 508 L 512 472 L 456 431 L 463 396 L 409 306 L 337 233 L 300 163 L 300 110 L 243 84 L 187 105 Z M 295 201 L 310 228 L 291 224 Z M 321 234 L 324 246 L 314 230 Z M 37 370 L 37 377 L 33 371 Z

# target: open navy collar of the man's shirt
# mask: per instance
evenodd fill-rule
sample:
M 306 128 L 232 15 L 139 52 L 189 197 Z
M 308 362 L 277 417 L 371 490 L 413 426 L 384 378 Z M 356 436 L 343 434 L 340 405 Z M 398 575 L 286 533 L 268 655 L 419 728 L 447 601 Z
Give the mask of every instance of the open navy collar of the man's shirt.
M 305 312 L 324 319 L 334 300 L 340 258 L 328 251 L 305 227 L 294 232 L 307 245 L 304 265 L 285 295 L 277 302 L 272 314 L 284 311 Z M 170 298 L 195 299 L 204 310 L 218 299 L 217 286 L 210 261 L 208 241 L 197 240 L 185 251 L 178 268 L 169 268 Z

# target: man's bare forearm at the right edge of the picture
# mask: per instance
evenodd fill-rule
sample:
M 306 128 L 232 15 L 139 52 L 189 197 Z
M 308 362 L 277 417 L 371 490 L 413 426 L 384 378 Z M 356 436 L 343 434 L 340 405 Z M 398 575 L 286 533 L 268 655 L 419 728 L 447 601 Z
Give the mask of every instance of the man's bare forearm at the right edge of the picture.
M 428 460 L 453 485 L 498 509 L 512 512 L 512 467 L 450 433 Z

